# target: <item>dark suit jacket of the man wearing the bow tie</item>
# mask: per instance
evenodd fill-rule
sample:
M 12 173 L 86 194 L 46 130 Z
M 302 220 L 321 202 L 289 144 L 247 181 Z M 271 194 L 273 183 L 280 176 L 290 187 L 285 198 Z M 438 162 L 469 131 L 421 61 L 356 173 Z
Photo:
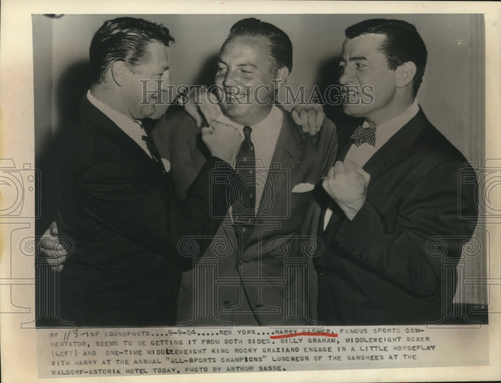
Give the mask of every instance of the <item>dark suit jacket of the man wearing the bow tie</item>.
M 340 159 L 352 131 L 340 137 Z M 473 232 L 474 222 L 461 216 L 476 214 L 474 183 L 458 182 L 465 164 L 421 109 L 369 159 L 363 166 L 371 175 L 366 202 L 351 222 L 333 203 L 323 234 L 326 251 L 316 259 L 321 321 L 375 325 L 441 319 L 442 291 L 453 295 L 456 286 L 450 266 Z M 428 243 L 432 237 L 443 241 L 443 254 L 440 242 Z

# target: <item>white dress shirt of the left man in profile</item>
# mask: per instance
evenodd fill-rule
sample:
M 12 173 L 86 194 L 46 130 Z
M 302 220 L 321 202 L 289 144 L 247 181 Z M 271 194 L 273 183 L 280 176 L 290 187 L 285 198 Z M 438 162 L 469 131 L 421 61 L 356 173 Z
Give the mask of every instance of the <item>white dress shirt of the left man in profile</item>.
M 143 135 L 147 135 L 146 131 L 144 130 L 141 121 L 134 120 L 130 117 L 127 117 L 125 114 L 122 114 L 115 109 L 109 107 L 108 105 L 104 104 L 100 100 L 98 100 L 96 97 L 94 97 L 91 94 L 91 91 L 87 91 L 87 99 L 91 104 L 93 104 L 95 107 L 97 107 L 100 111 L 103 112 L 104 115 L 106 115 L 109 119 L 111 119 L 115 125 L 117 125 L 120 129 L 124 131 L 125 134 L 127 134 L 130 138 L 134 140 L 150 158 L 151 153 L 148 149 L 148 146 L 146 145 L 146 142 L 143 141 Z M 170 170 L 170 162 L 162 158 L 162 163 L 163 166 L 165 167 L 165 171 Z

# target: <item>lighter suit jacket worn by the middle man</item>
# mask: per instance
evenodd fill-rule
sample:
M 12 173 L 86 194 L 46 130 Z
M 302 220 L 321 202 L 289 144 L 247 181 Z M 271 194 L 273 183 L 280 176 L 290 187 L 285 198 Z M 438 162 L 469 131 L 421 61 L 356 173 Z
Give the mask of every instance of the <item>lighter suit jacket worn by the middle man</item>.
M 300 183 L 316 185 L 327 173 L 336 153 L 337 135 L 334 124 L 326 119 L 318 136 L 312 138 L 294 123 L 289 112 L 283 108 L 281 110 L 283 123 L 272 158 L 272 163 L 278 166 L 270 170 L 267 180 L 273 183 L 273 198 L 268 201 L 270 209 L 263 211 L 262 207 L 267 203 L 262 199 L 256 224 L 242 248 L 236 239 L 239 233 L 233 229 L 230 217 L 226 217 L 213 243 L 201 257 L 217 257 L 218 285 L 209 310 L 216 312 L 218 319 L 234 325 L 280 322 L 285 318 L 287 304 L 299 304 L 302 309 L 306 309 L 304 300 L 307 304 L 312 303 L 307 295 L 308 280 L 301 281 L 304 296 L 299 303 L 296 301 L 297 295 L 293 298 L 295 303 L 286 298 L 286 288 L 293 289 L 295 282 L 290 282 L 287 287 L 282 282 L 286 278 L 285 260 L 295 255 L 308 260 L 302 254 L 302 244 L 306 239 L 298 238 L 297 234 L 305 224 L 304 217 L 312 202 L 313 190 L 292 190 Z M 182 197 L 207 158 L 199 129 L 183 110 L 170 110 L 159 120 L 153 137 L 162 156 L 171 160 L 174 184 L 178 197 Z M 284 175 L 286 182 L 277 182 L 278 175 Z M 283 191 L 280 191 L 280 185 L 285 187 Z M 315 227 L 316 235 L 317 222 L 306 222 L 306 225 L 311 224 Z M 280 240 L 289 244 L 290 251 L 281 252 L 285 247 L 280 247 Z M 215 254 L 217 246 L 213 244 L 217 241 L 229 241 L 227 243 L 231 251 L 224 256 Z M 310 271 L 313 271 L 313 265 Z M 299 278 L 299 272 L 294 277 Z M 194 317 L 194 280 L 193 272 L 183 274 L 178 310 L 181 322 Z M 214 324 L 213 321 L 204 322 L 201 318 L 193 323 Z M 303 317 L 296 323 L 308 324 L 309 320 Z

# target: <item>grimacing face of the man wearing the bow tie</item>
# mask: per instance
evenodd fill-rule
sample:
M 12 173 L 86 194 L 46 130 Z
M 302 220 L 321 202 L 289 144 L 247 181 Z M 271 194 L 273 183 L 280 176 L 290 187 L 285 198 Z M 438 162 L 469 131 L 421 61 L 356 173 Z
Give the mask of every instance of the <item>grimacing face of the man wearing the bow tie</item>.
M 374 33 L 347 38 L 340 62 L 341 85 L 354 85 L 359 89 L 354 98 L 348 99 L 349 102 L 345 100 L 345 113 L 364 117 L 376 125 L 384 122 L 398 103 L 397 72 L 388 67 L 388 59 L 379 49 L 385 39 L 384 34 Z M 373 101 L 370 104 L 361 102 L 363 94 L 360 90 L 364 85 L 373 86 Z

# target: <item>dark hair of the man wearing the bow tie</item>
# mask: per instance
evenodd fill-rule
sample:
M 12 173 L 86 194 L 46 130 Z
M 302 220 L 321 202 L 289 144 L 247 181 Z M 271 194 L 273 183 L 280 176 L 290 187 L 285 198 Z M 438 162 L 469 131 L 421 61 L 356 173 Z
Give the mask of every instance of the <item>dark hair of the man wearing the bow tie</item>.
M 414 62 L 416 74 L 412 80 L 412 90 L 415 96 L 423 80 L 428 55 L 424 41 L 417 32 L 416 27 L 403 20 L 372 18 L 349 26 L 345 30 L 348 38 L 368 33 L 386 35 L 386 40 L 381 43 L 379 48 L 386 55 L 388 67 L 391 70 L 395 70 L 404 62 Z

